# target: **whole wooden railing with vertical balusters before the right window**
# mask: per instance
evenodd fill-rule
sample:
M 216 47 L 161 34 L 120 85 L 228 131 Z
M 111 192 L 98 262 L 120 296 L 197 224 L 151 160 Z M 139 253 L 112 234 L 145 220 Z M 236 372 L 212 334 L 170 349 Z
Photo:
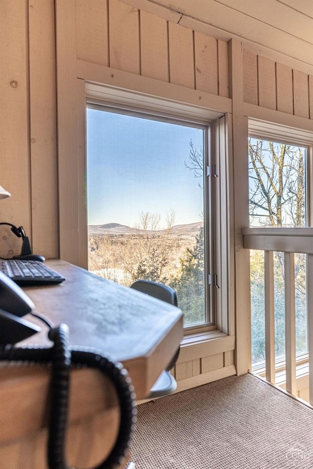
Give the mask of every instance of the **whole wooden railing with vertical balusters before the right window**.
M 307 312 L 309 369 L 313 370 L 313 228 L 243 228 L 244 247 L 264 251 L 266 379 L 275 383 L 273 252 L 285 255 L 286 390 L 296 392 L 294 253 L 307 254 Z M 313 372 L 309 374 L 313 405 Z

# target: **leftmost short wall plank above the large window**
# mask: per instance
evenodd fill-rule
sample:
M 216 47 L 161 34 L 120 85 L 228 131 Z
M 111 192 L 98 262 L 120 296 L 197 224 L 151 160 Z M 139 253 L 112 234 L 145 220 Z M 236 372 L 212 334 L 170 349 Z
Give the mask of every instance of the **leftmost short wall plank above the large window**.
M 108 0 L 76 0 L 76 57 L 109 66 Z

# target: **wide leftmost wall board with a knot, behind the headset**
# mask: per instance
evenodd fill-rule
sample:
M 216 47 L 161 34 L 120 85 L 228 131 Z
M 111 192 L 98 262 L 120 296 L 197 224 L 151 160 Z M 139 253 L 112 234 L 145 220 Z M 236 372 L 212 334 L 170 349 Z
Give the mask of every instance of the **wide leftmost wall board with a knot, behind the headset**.
M 1 222 L 31 230 L 27 17 L 24 0 L 1 2 L 0 31 L 0 184 L 12 197 L 1 201 Z M 11 233 L 12 235 L 12 233 Z M 10 237 L 11 237 L 10 235 Z M 5 257 L 6 240 L 0 255 Z M 20 253 L 20 243 L 18 243 Z

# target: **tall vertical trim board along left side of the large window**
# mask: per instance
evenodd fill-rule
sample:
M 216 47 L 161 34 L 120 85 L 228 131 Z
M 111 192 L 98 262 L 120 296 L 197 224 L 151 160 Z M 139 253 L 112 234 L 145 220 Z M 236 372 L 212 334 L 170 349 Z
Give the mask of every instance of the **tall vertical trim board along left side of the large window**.
M 84 232 L 87 226 L 79 226 L 83 201 L 78 160 L 85 148 L 77 142 L 75 0 L 56 0 L 56 47 L 60 259 L 86 267 L 87 245 L 80 252 L 81 228 Z

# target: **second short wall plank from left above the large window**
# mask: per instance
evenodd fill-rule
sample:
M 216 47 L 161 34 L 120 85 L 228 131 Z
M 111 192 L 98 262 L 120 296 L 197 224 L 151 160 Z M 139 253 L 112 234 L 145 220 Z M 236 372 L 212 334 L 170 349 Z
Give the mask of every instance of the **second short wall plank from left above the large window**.
M 140 75 L 139 11 L 109 0 L 110 67 Z

